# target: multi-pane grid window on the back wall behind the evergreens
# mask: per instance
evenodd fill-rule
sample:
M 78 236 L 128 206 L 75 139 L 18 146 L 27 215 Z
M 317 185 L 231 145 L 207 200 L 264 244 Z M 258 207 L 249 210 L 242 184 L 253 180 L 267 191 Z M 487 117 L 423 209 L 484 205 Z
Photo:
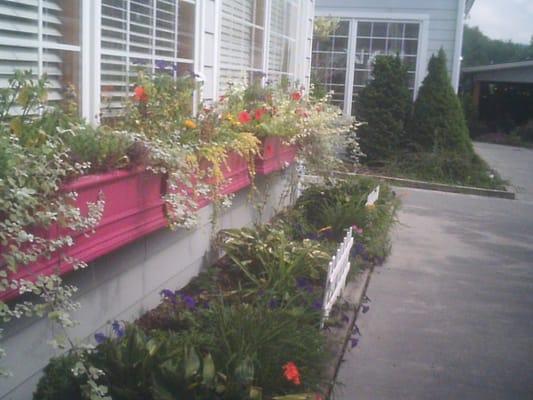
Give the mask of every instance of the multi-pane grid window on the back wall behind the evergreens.
M 372 79 L 375 57 L 398 54 L 414 91 L 420 31 L 419 22 L 341 20 L 327 39 L 314 38 L 313 80 L 333 91 L 332 101 L 353 114 L 357 93 Z

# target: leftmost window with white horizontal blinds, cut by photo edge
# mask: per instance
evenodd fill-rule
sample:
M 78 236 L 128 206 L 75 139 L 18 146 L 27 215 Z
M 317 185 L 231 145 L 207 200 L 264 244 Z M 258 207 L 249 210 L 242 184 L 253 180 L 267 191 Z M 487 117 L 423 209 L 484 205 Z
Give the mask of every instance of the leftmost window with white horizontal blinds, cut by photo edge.
M 74 90 L 82 99 L 80 0 L 0 0 L 0 87 L 15 70 L 47 74 L 49 101 Z

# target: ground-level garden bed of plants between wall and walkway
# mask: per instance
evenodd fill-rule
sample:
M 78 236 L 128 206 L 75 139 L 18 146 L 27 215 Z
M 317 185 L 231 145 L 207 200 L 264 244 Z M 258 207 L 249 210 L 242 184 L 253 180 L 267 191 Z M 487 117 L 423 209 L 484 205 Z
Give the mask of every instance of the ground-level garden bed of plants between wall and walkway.
M 355 270 L 389 251 L 398 204 L 381 185 L 367 206 L 376 185 L 357 178 L 312 186 L 270 224 L 222 231 L 224 258 L 187 287 L 163 290 L 161 304 L 135 324 L 116 321 L 95 335 L 100 344 L 87 357 L 104 371 L 101 384 L 114 400 L 321 398 L 335 353 L 319 329 L 328 261 L 350 226 Z M 346 324 L 349 312 L 339 307 L 326 327 Z M 34 398 L 81 399 L 74 359 L 53 360 Z

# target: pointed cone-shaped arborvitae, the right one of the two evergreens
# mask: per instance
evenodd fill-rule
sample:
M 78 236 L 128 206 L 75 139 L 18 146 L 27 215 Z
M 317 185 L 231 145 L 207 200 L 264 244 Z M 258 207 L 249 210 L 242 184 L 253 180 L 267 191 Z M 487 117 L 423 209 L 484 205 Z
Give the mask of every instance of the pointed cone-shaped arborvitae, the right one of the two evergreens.
M 408 133 L 411 142 L 421 150 L 472 152 L 463 108 L 448 76 L 442 49 L 429 61 Z

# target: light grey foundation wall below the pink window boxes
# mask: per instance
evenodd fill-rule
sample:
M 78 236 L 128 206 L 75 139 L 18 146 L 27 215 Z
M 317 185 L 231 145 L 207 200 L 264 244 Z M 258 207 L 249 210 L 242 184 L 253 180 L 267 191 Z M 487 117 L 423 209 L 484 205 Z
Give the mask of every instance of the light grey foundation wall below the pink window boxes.
M 256 179 L 264 195 L 259 213 L 248 200 L 249 189 L 236 194 L 230 209 L 222 212 L 220 228 L 238 228 L 270 219 L 289 202 L 286 196 L 292 168 Z M 200 211 L 196 229 L 161 230 L 100 258 L 87 269 L 66 277 L 79 288 L 76 313 L 80 325 L 72 337 L 93 340 L 95 332 L 109 333 L 113 320 L 132 321 L 160 301 L 160 291 L 179 289 L 213 261 L 210 256 L 212 207 Z M 59 354 L 47 341 L 60 333 L 46 319 L 22 320 L 6 327 L 2 346 L 8 355 L 2 366 L 13 377 L 0 380 L 0 399 L 27 400 L 50 357 Z

